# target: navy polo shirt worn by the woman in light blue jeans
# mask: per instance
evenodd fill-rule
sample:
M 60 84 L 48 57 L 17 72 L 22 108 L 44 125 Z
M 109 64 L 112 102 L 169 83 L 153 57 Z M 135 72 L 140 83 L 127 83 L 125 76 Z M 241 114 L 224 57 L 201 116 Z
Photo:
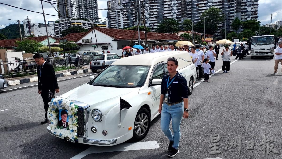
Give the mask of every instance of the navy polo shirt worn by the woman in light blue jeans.
M 168 103 L 176 103 L 182 101 L 182 98 L 188 98 L 187 80 L 178 71 L 175 76 L 169 89 L 166 87 L 167 82 L 170 83 L 173 78 L 171 79 L 168 74 L 162 79 L 160 94 L 165 95 L 168 92 Z

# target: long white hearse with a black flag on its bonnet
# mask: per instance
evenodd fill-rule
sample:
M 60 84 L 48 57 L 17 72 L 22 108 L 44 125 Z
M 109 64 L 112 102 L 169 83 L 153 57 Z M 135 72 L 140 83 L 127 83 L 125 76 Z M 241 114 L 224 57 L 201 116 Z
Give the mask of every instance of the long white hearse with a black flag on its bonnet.
M 91 76 L 90 82 L 61 95 L 79 106 L 77 142 L 111 146 L 145 137 L 159 115 L 160 84 L 168 74 L 169 57 L 177 58 L 178 72 L 191 94 L 197 73 L 189 53 L 167 51 L 121 58 Z

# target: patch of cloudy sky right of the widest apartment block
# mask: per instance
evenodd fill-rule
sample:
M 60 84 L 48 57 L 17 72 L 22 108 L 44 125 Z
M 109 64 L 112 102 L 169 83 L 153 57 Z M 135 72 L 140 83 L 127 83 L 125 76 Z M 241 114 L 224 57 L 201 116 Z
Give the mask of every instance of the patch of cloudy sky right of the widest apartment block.
M 282 12 L 281 1 L 277 0 L 261 0 L 258 7 L 258 20 L 261 21 L 261 25 L 270 24 L 271 14 L 272 23 L 281 21 L 282 17 L 279 13 Z

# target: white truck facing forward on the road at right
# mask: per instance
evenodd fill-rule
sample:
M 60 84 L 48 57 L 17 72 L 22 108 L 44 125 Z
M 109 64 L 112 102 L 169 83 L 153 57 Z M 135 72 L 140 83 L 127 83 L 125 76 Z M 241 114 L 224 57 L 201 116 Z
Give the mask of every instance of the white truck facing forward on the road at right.
M 255 56 L 269 56 L 270 59 L 273 59 L 275 43 L 274 35 L 252 36 L 250 47 L 251 59 L 254 59 Z

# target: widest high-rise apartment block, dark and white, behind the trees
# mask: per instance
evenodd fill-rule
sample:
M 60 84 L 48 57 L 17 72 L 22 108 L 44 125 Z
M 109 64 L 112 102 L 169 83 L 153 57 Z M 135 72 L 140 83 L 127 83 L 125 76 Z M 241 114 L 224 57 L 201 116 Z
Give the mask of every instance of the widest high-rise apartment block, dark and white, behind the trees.
M 146 26 L 154 31 L 163 19 L 173 18 L 178 22 L 185 19 L 193 19 L 196 24 L 200 21 L 202 13 L 211 8 L 219 8 L 225 14 L 226 22 L 219 24 L 221 29 L 232 31 L 230 24 L 237 17 L 240 20 L 251 20 L 258 18 L 259 0 L 111 0 L 108 8 L 119 6 L 119 10 L 108 11 L 108 27 L 122 28 L 136 26 L 137 17 L 143 14 L 141 6 L 144 5 Z M 137 16 L 138 10 L 138 16 Z M 115 16 L 115 17 L 114 17 Z M 134 22 L 135 21 L 135 22 Z M 140 24 L 143 24 L 141 21 Z M 217 33 L 219 35 L 220 32 Z

